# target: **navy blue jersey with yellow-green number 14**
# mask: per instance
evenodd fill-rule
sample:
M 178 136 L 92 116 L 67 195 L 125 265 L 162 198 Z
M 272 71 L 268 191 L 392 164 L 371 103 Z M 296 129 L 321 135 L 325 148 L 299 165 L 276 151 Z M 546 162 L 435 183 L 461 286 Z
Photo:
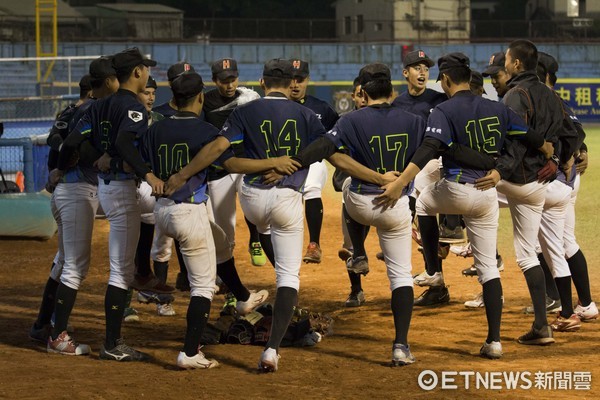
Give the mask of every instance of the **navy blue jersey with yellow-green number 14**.
M 267 159 L 298 154 L 325 129 L 310 109 L 274 93 L 237 107 L 221 133 L 232 145 L 242 143 L 247 158 Z M 278 186 L 302 191 L 307 174 L 306 168 L 298 170 Z M 245 175 L 244 181 L 263 186 L 260 174 Z

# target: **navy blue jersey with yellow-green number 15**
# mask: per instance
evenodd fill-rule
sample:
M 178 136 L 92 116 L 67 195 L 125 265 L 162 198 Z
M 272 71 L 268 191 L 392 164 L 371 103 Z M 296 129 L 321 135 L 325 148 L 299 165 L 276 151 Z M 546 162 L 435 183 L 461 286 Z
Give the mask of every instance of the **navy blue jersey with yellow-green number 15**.
M 527 125 L 504 104 L 462 91 L 438 105 L 427 121 L 425 137 L 448 147 L 455 143 L 491 156 L 500 155 L 507 135 L 525 135 Z M 451 157 L 442 157 L 444 177 L 473 183 L 487 171 L 461 168 Z

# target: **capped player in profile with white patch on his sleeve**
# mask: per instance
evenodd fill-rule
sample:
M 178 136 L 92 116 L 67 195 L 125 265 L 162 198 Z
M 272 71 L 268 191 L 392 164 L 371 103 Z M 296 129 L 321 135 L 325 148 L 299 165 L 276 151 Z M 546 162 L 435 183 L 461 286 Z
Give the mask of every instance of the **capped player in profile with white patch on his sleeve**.
M 116 165 L 112 169 L 119 172 L 102 172 L 98 176 L 100 205 L 110 222 L 110 277 L 104 303 L 106 338 L 100 350 L 101 359 L 147 359 L 146 354 L 124 343 L 121 326 L 127 289 L 134 278 L 134 249 L 140 229 L 135 177 L 143 177 L 158 195 L 162 194 L 164 185 L 144 163 L 135 147 L 136 139 L 148 129 L 147 112 L 138 101 L 137 94 L 146 87 L 148 67 L 155 65 L 155 61 L 144 58 L 137 48 L 115 54 L 113 66 L 120 83 L 119 91 L 90 107 L 65 140 L 59 156 L 59 169 L 62 170 L 73 150 L 89 137 L 98 151 L 107 152 L 115 162 L 119 159 L 127 162 L 135 171 L 135 174 L 128 173 L 122 165 Z

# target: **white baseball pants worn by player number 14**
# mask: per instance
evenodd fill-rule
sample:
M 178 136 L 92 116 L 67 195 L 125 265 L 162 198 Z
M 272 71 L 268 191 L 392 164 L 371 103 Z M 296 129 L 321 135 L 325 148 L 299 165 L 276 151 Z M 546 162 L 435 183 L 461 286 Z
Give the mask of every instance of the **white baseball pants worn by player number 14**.
M 300 288 L 304 239 L 302 193 L 289 188 L 259 188 L 242 184 L 240 204 L 258 232 L 271 230 L 277 288 Z

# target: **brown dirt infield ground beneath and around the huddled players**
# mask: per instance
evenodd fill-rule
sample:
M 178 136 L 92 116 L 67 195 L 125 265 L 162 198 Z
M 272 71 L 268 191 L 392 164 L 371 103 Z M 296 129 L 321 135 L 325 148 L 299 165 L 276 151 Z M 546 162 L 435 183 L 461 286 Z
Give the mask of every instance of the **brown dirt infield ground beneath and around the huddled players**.
M 393 321 L 389 307 L 389 282 L 383 262 L 377 261 L 379 249 L 375 232 L 367 239 L 371 273 L 364 282 L 367 303 L 360 308 L 343 306 L 349 282 L 343 263 L 337 257 L 341 245 L 340 196 L 327 192 L 324 198 L 325 220 L 322 232 L 324 260 L 320 265 L 304 264 L 301 270 L 300 305 L 325 312 L 335 319 L 334 334 L 312 348 L 281 350 L 280 370 L 263 375 L 256 372 L 261 349 L 255 346 L 216 345 L 204 348 L 221 366 L 205 371 L 179 371 L 175 359 L 185 331 L 186 294 L 177 293 L 175 317 L 158 317 L 151 305 L 136 304 L 140 322 L 125 323 L 129 344 L 150 353 L 149 363 L 116 363 L 98 360 L 104 335 L 104 291 L 107 280 L 106 221 L 97 221 L 94 253 L 88 279 L 78 295 L 71 323 L 75 337 L 92 347 L 90 357 L 50 355 L 44 347 L 31 342 L 27 332 L 37 315 L 48 269 L 56 250 L 56 237 L 47 242 L 2 240 L 0 251 L 0 398 L 31 399 L 395 399 L 395 398 L 598 398 L 600 376 L 598 351 L 600 321 L 584 324 L 576 333 L 556 334 L 557 343 L 549 347 L 522 346 L 515 342 L 532 322 L 521 309 L 528 294 L 522 273 L 512 256 L 512 242 L 503 228 L 500 252 L 505 256 L 502 274 L 505 308 L 502 341 L 505 356 L 490 361 L 478 356 L 485 339 L 483 309 L 468 310 L 464 301 L 476 295 L 480 286 L 474 278 L 460 274 L 472 259 L 450 255 L 445 263 L 451 302 L 439 308 L 415 309 L 409 341 L 417 362 L 403 368 L 391 368 Z M 503 218 L 506 220 L 503 211 Z M 238 214 L 236 262 L 242 280 L 250 288 L 267 288 L 275 293 L 274 272 L 270 265 L 253 267 L 246 251 L 247 230 Z M 504 239 L 502 239 L 504 238 Z M 585 250 L 585 249 L 584 249 Z M 422 258 L 413 248 L 413 271 L 422 270 Z M 588 257 L 592 293 L 600 293 L 597 259 Z M 169 282 L 174 284 L 177 262 L 171 263 Z M 415 288 L 415 295 L 421 293 Z M 574 294 L 574 298 L 576 295 Z M 211 319 L 218 315 L 224 299 L 213 302 Z M 550 318 L 550 317 L 549 317 Z M 418 376 L 432 370 L 437 387 L 425 391 Z M 446 386 L 441 389 L 442 371 Z M 452 375 L 452 371 L 456 374 Z M 476 379 L 465 376 L 472 371 L 487 384 L 501 389 L 477 390 Z M 536 380 L 536 373 L 548 373 L 552 379 Z M 548 390 L 536 383 L 573 385 L 569 372 L 583 371 L 592 376 L 591 390 Z M 459 374 L 461 373 L 462 374 Z M 507 389 L 502 373 L 523 373 L 530 389 Z M 529 374 L 529 375 L 528 375 Z M 575 375 L 576 376 L 576 375 Z M 584 381 L 587 379 L 582 378 Z M 496 380 L 491 380 L 495 378 Z M 454 379 L 454 382 L 449 379 Z M 425 381 L 429 381 L 426 378 Z M 568 383 L 565 383 L 567 382 Z M 483 383 L 481 383 L 483 385 Z M 526 379 L 517 387 L 527 387 Z

